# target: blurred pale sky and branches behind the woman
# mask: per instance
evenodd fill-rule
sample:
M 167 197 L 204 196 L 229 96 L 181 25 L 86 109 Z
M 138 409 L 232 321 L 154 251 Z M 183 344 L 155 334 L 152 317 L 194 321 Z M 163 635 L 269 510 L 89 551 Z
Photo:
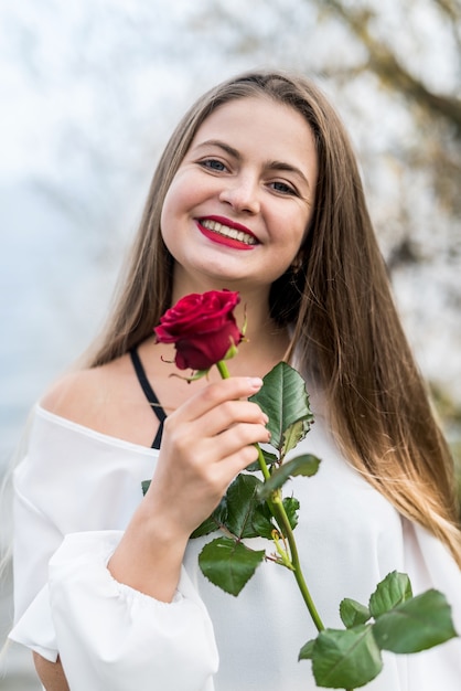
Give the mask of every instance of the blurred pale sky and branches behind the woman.
M 314 77 L 349 128 L 460 465 L 460 0 L 2 0 L 1 474 L 34 401 L 104 320 L 176 120 L 217 81 L 271 65 Z M 4 545 L 8 489 L 1 500 Z M 29 658 L 3 651 L 0 689 L 40 688 Z

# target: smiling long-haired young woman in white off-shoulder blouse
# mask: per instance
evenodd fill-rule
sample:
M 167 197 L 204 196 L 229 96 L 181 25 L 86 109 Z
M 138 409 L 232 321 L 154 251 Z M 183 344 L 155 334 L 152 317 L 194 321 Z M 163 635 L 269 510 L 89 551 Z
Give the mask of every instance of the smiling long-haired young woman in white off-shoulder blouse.
M 153 327 L 179 298 L 223 288 L 239 291 L 248 323 L 232 378 L 171 376 L 183 372 Z M 250 73 L 180 123 L 105 334 L 36 406 L 15 471 L 11 638 L 34 651 L 47 691 L 315 688 L 297 661 L 315 630 L 291 574 L 264 564 L 233 598 L 199 571 L 207 539 L 189 539 L 268 440 L 247 398 L 282 359 L 315 415 L 301 446 L 323 459 L 290 491 L 326 626 L 340 626 L 343 597 L 367 602 L 394 570 L 416 593 L 441 589 L 460 624 L 452 463 L 346 134 L 307 79 Z M 458 640 L 389 655 L 368 688 L 454 691 L 460 658 Z

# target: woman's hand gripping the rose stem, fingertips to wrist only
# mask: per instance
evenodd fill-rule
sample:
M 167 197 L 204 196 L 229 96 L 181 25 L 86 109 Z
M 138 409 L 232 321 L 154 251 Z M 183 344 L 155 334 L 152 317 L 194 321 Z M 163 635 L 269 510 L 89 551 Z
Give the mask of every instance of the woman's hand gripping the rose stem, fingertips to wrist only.
M 189 538 L 257 459 L 254 445 L 269 440 L 267 416 L 245 400 L 261 384 L 249 378 L 210 384 L 167 418 L 146 501 L 173 533 Z

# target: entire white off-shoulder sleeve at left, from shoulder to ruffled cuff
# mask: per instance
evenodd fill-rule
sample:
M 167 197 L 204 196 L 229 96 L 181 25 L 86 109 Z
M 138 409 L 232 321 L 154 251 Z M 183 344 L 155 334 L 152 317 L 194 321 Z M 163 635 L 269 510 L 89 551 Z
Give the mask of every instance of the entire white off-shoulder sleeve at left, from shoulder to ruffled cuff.
M 15 472 L 9 637 L 47 660 L 58 655 L 72 691 L 212 691 L 213 626 L 184 567 L 172 603 L 107 568 L 156 460 L 150 449 L 108 442 L 45 413 L 36 421 Z

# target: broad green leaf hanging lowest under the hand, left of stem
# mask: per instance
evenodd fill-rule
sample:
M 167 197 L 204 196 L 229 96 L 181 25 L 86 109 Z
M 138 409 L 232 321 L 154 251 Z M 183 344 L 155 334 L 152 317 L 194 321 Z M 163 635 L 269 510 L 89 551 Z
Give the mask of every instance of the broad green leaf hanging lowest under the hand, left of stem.
M 264 550 L 249 550 L 230 538 L 217 538 L 205 544 L 199 555 L 199 565 L 214 585 L 230 595 L 238 595 L 265 554 Z

